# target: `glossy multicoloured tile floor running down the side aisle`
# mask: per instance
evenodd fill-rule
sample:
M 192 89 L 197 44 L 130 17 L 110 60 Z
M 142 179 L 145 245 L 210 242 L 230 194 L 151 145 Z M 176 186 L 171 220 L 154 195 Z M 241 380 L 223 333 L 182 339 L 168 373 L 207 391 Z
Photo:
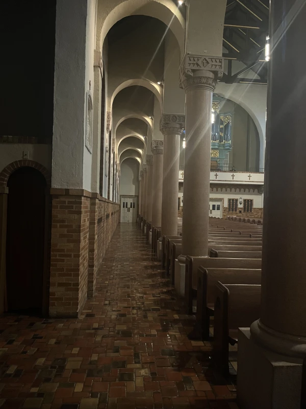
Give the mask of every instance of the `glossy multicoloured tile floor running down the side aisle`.
M 138 227 L 121 224 L 79 320 L 0 319 L 1 409 L 237 409 L 192 326 Z

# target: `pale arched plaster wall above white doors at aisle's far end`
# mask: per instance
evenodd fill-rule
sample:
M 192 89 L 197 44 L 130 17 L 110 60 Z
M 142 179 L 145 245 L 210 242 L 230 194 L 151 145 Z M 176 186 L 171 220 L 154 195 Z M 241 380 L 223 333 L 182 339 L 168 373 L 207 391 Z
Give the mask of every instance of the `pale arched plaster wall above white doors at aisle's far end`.
M 133 158 L 125 159 L 120 167 L 120 195 L 138 196 L 139 163 Z

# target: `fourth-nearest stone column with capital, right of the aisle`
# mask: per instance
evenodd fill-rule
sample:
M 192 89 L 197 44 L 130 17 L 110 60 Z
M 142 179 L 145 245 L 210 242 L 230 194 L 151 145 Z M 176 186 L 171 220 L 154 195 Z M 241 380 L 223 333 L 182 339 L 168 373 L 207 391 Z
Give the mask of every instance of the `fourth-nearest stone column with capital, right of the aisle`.
M 153 165 L 153 193 L 152 193 L 152 226 L 162 225 L 162 198 L 163 198 L 163 153 L 164 141 L 152 141 L 154 154 Z

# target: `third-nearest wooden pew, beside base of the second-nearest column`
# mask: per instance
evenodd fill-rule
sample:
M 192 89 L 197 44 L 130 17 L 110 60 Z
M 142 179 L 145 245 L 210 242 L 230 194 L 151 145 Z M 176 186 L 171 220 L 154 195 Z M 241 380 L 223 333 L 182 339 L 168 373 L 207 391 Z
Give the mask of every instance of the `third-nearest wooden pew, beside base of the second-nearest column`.
M 192 314 L 193 298 L 196 298 L 198 268 L 261 268 L 261 259 L 226 259 L 210 257 L 186 257 L 185 302 L 188 314 Z

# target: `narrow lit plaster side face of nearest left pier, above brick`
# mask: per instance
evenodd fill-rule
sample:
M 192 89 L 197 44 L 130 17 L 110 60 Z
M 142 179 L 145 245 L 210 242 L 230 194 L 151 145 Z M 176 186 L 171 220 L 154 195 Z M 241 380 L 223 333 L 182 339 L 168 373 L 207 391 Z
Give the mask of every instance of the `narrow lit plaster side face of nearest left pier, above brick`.
M 84 98 L 84 135 L 86 135 L 86 93 L 91 91 L 93 100 L 94 94 L 94 72 L 93 72 L 93 55 L 95 47 L 95 13 L 96 0 L 87 0 L 87 21 L 86 21 L 86 54 L 85 54 L 85 98 Z M 89 85 L 90 82 L 90 85 Z M 84 138 L 84 156 L 83 156 L 83 187 L 91 191 L 91 169 L 92 153 L 85 147 Z M 97 174 L 95 174 L 97 177 Z

